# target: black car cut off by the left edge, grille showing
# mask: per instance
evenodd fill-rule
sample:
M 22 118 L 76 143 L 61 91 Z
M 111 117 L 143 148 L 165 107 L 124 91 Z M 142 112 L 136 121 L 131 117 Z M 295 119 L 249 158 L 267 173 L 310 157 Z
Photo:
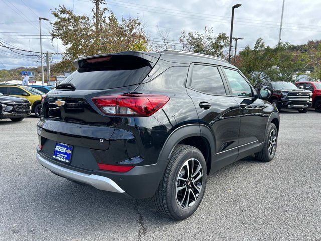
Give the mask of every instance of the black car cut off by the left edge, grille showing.
M 30 102 L 23 98 L 6 96 L 0 93 L 0 119 L 20 122 L 30 115 Z

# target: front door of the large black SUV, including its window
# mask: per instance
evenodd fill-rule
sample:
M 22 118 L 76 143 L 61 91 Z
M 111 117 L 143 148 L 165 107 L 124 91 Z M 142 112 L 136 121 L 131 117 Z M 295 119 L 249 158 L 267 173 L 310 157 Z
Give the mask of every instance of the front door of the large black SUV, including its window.
M 223 68 L 231 95 L 240 107 L 239 152 L 259 147 L 264 141 L 266 118 L 264 101 L 254 98 L 256 94 L 246 78 L 236 69 Z M 242 157 L 238 157 L 242 158 Z

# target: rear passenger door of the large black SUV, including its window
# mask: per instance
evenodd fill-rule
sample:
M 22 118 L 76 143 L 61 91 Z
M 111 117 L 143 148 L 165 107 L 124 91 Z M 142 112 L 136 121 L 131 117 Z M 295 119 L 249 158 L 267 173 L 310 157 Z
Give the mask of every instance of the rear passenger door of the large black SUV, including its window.
M 200 123 L 208 126 L 215 140 L 214 162 L 219 169 L 238 155 L 240 127 L 238 104 L 229 90 L 219 66 L 194 63 L 189 70 L 187 92 L 192 98 Z

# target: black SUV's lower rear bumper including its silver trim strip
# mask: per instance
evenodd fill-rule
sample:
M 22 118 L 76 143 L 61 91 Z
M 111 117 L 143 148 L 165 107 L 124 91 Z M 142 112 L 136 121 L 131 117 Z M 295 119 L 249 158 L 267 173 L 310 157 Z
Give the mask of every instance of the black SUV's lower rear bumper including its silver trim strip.
M 88 171 L 60 163 L 44 157 L 37 150 L 38 162 L 58 176 L 108 191 L 127 198 L 152 197 L 167 166 L 167 161 L 158 161 L 153 165 L 136 166 L 129 172 L 117 173 L 102 170 Z

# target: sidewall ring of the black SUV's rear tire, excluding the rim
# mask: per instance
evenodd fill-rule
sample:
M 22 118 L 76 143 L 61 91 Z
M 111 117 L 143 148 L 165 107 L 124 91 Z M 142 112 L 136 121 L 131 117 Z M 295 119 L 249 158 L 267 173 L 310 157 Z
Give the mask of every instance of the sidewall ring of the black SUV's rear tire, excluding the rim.
M 199 195 L 199 197 L 196 200 L 196 203 L 188 208 L 188 209 L 183 209 L 182 207 L 179 206 L 179 204 L 177 203 L 176 200 L 176 184 L 177 184 L 177 176 L 179 174 L 179 171 L 181 170 L 183 164 L 191 158 L 195 158 L 197 159 L 203 169 L 203 180 L 202 180 L 202 189 L 201 189 L 201 193 Z M 187 152 L 183 153 L 182 155 L 179 156 L 178 160 L 176 160 L 176 167 L 175 167 L 175 171 L 172 173 L 170 180 L 169 180 L 169 184 L 170 184 L 170 190 L 169 190 L 169 208 L 170 208 L 170 212 L 171 215 L 177 219 L 177 220 L 183 220 L 188 218 L 189 216 L 191 216 L 196 209 L 199 207 L 199 205 L 201 204 L 201 201 L 203 199 L 204 196 L 204 192 L 206 189 L 206 177 L 207 177 L 207 168 L 206 168 L 206 162 L 205 159 L 202 155 L 202 153 L 196 149 L 193 148 L 192 150 L 188 150 Z

